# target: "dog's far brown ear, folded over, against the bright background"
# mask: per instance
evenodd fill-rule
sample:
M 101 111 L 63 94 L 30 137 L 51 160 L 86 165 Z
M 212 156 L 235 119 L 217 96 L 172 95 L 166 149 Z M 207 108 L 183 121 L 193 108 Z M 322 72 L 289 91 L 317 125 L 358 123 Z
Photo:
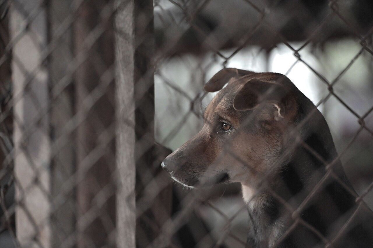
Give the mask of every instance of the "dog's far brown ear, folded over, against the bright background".
M 204 86 L 204 90 L 207 92 L 219 91 L 223 86 L 229 82 L 231 78 L 239 78 L 244 75 L 248 75 L 255 72 L 248 70 L 241 70 L 235 68 L 224 68 L 219 70 Z

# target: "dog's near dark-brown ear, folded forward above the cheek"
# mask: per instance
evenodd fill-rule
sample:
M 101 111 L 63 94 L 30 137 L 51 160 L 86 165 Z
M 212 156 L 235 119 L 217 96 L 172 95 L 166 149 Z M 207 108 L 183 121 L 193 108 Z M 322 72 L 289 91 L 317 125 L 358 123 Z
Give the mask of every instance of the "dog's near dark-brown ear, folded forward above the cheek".
M 275 109 L 275 120 L 282 119 L 285 114 L 292 118 L 297 111 L 295 99 L 288 89 L 258 79 L 251 79 L 245 83 L 233 99 L 235 110 L 250 110 L 259 104 L 271 104 Z

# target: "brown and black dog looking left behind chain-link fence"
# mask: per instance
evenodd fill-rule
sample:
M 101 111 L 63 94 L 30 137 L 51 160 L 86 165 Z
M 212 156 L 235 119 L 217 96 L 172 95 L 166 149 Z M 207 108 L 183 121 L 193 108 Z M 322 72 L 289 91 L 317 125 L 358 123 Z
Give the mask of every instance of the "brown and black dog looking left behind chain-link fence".
M 326 120 L 285 75 L 225 68 L 204 89 L 219 92 L 201 131 L 162 162 L 173 180 L 240 182 L 247 247 L 373 247 L 373 212 L 348 181 Z

